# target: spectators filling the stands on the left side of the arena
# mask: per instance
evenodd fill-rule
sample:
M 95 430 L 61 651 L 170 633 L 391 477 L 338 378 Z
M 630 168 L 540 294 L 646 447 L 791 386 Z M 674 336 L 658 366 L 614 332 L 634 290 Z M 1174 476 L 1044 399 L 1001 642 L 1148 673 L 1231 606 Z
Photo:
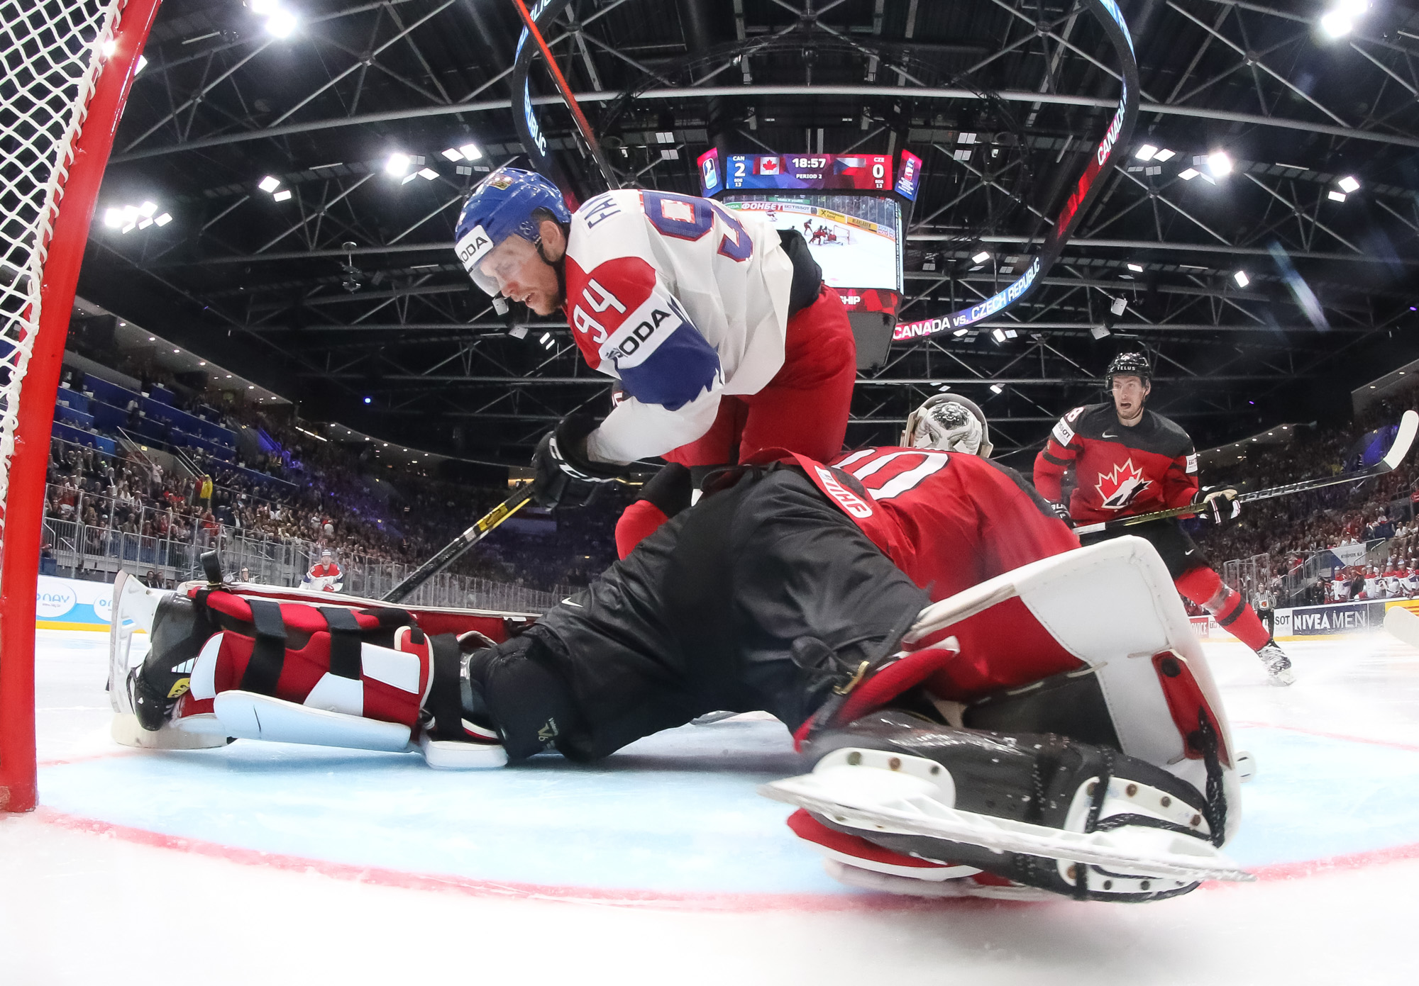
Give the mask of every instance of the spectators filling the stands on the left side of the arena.
M 99 531 L 122 531 L 206 548 L 226 528 L 309 543 L 312 554 L 329 548 L 343 564 L 358 558 L 356 564 L 417 565 L 508 493 L 440 480 L 412 466 L 389 468 L 369 446 L 322 442 L 309 429 L 298 431 L 285 405 L 263 408 L 223 400 L 224 392 L 194 394 L 160 368 L 119 368 L 140 378 L 145 392 L 160 384 L 173 392 L 176 407 L 240 432 L 244 441 L 230 462 L 204 448 L 165 448 L 177 468 L 163 469 L 155 459 L 165 456 L 143 455 L 132 443 L 121 442 L 108 455 L 54 438 L 45 514 L 81 521 L 89 541 Z M 139 411 L 133 407 L 129 414 Z M 613 493 L 604 503 L 543 518 L 529 531 L 494 531 L 451 571 L 531 588 L 585 585 L 614 558 L 612 528 L 622 506 Z

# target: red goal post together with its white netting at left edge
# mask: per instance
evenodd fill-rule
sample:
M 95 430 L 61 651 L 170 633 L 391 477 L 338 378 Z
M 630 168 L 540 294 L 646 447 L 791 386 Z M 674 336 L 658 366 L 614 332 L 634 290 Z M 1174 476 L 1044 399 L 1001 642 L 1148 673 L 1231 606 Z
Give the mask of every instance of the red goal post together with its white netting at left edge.
M 74 288 L 159 0 L 0 0 L 0 812 L 35 803 L 34 595 Z

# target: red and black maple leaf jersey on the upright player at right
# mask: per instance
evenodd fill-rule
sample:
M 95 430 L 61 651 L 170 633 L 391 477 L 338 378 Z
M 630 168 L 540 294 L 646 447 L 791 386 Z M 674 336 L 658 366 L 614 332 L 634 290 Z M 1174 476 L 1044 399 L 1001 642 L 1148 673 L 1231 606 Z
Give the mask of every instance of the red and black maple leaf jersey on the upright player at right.
M 1127 428 L 1118 424 L 1112 402 L 1074 408 L 1059 419 L 1034 458 L 1034 487 L 1044 499 L 1063 499 L 1060 482 L 1070 465 L 1074 492 L 1069 513 L 1080 523 L 1182 507 L 1198 493 L 1192 439 L 1152 411 Z

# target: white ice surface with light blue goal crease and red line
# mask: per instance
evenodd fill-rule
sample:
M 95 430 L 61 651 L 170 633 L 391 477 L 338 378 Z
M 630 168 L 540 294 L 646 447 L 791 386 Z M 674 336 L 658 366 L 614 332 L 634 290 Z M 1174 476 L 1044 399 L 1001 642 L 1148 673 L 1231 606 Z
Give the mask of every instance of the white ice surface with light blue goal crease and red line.
M 108 738 L 106 638 L 41 630 L 40 798 L 0 816 L 0 983 L 1410 983 L 1419 650 L 1208 643 L 1260 880 L 1158 904 L 917 901 L 829 880 L 755 795 L 775 721 L 436 772 L 417 755 Z

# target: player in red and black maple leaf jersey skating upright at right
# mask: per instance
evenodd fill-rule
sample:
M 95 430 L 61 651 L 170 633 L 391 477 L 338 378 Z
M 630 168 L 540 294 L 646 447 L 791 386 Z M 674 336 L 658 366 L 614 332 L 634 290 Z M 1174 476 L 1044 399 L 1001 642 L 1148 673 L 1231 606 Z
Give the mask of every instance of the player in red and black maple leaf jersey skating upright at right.
M 1073 523 L 1091 524 L 1183 507 L 1198 500 L 1198 455 L 1188 432 L 1144 402 L 1152 371 L 1142 353 L 1122 353 L 1108 367 L 1111 402 L 1074 408 L 1054 425 L 1034 458 L 1034 487 Z M 1074 492 L 1063 504 L 1064 470 L 1074 468 Z M 1233 490 L 1208 492 L 1199 514 L 1226 523 L 1236 517 Z M 1203 606 L 1218 625 L 1256 652 L 1271 684 L 1291 684 L 1291 659 L 1267 633 L 1246 598 L 1222 582 L 1202 548 L 1176 520 L 1137 524 L 1124 531 L 1086 534 L 1094 544 L 1120 534 L 1148 538 L 1168 565 L 1178 591 Z

